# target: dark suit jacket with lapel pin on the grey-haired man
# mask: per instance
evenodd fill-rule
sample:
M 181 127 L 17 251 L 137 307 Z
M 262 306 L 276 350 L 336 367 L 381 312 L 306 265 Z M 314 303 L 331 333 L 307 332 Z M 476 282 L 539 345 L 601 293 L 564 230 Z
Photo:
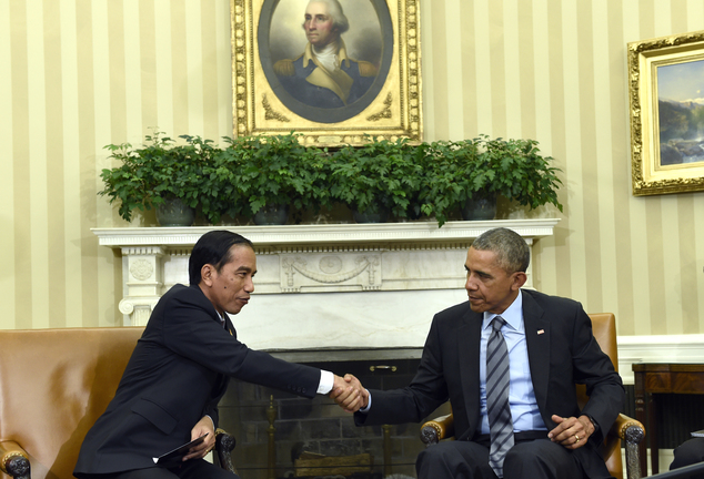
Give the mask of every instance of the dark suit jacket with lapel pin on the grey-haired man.
M 624 401 L 621 377 L 592 335 L 582 306 L 566 298 L 523 289 L 523 318 L 535 398 L 547 429 L 552 415 L 586 414 L 600 425 L 575 455 L 587 477 L 610 477 L 597 452 Z M 480 422 L 479 357 L 483 315 L 462 303 L 433 318 L 419 370 L 411 385 L 391 391 L 372 390 L 368 415 L 358 425 L 419 422 L 447 399 L 455 437 L 471 440 Z M 537 332 L 543 333 L 537 334 Z M 585 384 L 590 401 L 580 411 L 575 383 Z

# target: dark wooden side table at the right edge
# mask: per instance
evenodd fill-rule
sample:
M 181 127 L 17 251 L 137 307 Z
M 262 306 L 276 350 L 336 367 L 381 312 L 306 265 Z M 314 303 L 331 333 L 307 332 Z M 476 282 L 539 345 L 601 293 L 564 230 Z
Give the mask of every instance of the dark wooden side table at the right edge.
M 646 442 L 651 446 L 653 473 L 660 472 L 657 457 L 657 394 L 704 394 L 704 364 L 633 364 L 635 379 L 635 418 L 645 426 L 640 445 L 641 471 L 647 475 Z

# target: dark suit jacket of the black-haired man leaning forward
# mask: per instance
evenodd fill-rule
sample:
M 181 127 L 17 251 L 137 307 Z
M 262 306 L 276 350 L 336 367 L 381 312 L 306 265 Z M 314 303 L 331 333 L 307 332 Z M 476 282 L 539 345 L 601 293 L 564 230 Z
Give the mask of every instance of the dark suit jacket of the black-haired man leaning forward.
M 205 415 L 218 425 L 228 377 L 313 397 L 320 369 L 290 364 L 223 329 L 198 286 L 173 286 L 154 308 L 114 398 L 86 436 L 74 475 L 153 467 L 153 457 L 191 439 Z

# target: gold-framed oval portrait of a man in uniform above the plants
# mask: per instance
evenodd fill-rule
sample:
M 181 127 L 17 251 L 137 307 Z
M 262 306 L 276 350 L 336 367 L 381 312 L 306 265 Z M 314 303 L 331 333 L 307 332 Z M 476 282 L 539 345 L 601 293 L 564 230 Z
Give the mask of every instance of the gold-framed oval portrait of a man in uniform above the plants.
M 365 134 L 422 141 L 419 0 L 338 1 L 349 18 L 338 37 L 345 50 L 331 68 L 349 73 L 342 89 L 311 73 L 328 70 L 312 60 L 309 0 L 231 0 L 235 136 L 294 131 L 331 146 L 363 144 Z

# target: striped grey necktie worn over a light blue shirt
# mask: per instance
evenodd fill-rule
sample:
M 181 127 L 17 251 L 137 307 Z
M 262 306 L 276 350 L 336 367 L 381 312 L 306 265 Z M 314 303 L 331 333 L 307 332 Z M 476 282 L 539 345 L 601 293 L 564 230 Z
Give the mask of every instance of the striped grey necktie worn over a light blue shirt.
M 491 448 L 489 465 L 500 478 L 503 477 L 503 460 L 513 447 L 513 421 L 509 406 L 509 349 L 501 334 L 506 322 L 496 316 L 486 343 L 486 409 Z

